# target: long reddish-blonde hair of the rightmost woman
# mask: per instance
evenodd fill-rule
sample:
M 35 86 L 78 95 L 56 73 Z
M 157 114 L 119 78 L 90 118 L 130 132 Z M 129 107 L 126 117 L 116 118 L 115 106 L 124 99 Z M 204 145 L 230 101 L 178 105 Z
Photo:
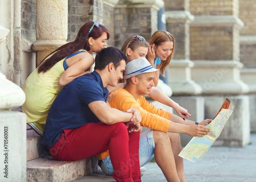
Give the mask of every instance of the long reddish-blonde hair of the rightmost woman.
M 148 41 L 148 43 L 150 43 L 150 45 L 152 45 L 154 43 L 156 46 L 159 46 L 163 42 L 167 42 L 167 41 L 173 42 L 174 48 L 175 48 L 175 41 L 174 41 L 174 37 L 172 36 L 172 34 L 170 34 L 167 31 L 164 31 L 164 30 L 158 30 L 151 36 L 150 41 Z M 161 61 L 161 63 L 160 63 L 159 70 L 163 76 L 165 73 L 165 68 L 169 65 L 170 60 L 174 56 L 174 48 L 172 50 L 172 53 L 167 57 L 166 61 Z

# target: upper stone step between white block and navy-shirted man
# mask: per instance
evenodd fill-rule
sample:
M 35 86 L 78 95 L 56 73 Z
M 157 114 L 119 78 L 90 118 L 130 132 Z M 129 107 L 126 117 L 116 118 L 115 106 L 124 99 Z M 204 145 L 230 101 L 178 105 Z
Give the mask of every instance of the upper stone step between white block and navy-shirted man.
M 37 135 L 33 129 L 27 129 L 27 161 L 42 157 L 41 140 L 42 137 Z

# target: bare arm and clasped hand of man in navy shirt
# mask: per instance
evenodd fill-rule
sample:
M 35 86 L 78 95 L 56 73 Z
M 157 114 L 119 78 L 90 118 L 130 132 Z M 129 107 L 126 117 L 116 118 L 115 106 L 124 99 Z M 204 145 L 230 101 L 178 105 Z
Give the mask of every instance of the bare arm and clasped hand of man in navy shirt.
M 140 113 L 135 109 L 132 109 L 133 111 L 130 111 L 131 113 L 129 113 L 128 110 L 128 112 L 122 112 L 111 108 L 108 103 L 100 100 L 91 102 L 88 106 L 95 116 L 105 124 L 115 124 L 127 121 L 139 124 L 141 121 Z

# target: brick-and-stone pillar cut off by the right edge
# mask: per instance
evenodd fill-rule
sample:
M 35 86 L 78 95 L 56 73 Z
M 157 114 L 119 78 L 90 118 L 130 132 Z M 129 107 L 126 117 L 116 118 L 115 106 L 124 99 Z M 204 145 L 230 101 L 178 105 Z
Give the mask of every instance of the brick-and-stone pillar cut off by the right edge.
M 244 64 L 241 79 L 249 86 L 250 128 L 256 132 L 256 7 L 252 1 L 239 1 L 239 17 L 245 26 L 240 32 L 240 60 Z

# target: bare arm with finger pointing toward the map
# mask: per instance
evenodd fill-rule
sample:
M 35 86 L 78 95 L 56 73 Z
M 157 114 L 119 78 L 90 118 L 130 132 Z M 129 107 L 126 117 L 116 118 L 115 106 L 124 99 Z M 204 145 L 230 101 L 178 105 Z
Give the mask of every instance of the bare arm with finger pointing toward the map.
M 180 117 L 183 118 L 183 120 L 185 120 L 185 118 L 187 118 L 188 116 L 192 117 L 186 109 L 182 108 L 181 106 L 179 106 L 178 103 L 176 103 L 175 101 L 173 101 L 172 99 L 170 99 L 167 95 L 165 95 L 161 90 L 159 90 L 156 87 L 152 87 L 151 91 L 150 91 L 150 96 L 151 98 L 153 98 L 154 100 L 157 100 L 161 103 L 163 103 L 166 106 L 169 106 L 171 108 L 174 108 L 175 111 L 179 114 Z

